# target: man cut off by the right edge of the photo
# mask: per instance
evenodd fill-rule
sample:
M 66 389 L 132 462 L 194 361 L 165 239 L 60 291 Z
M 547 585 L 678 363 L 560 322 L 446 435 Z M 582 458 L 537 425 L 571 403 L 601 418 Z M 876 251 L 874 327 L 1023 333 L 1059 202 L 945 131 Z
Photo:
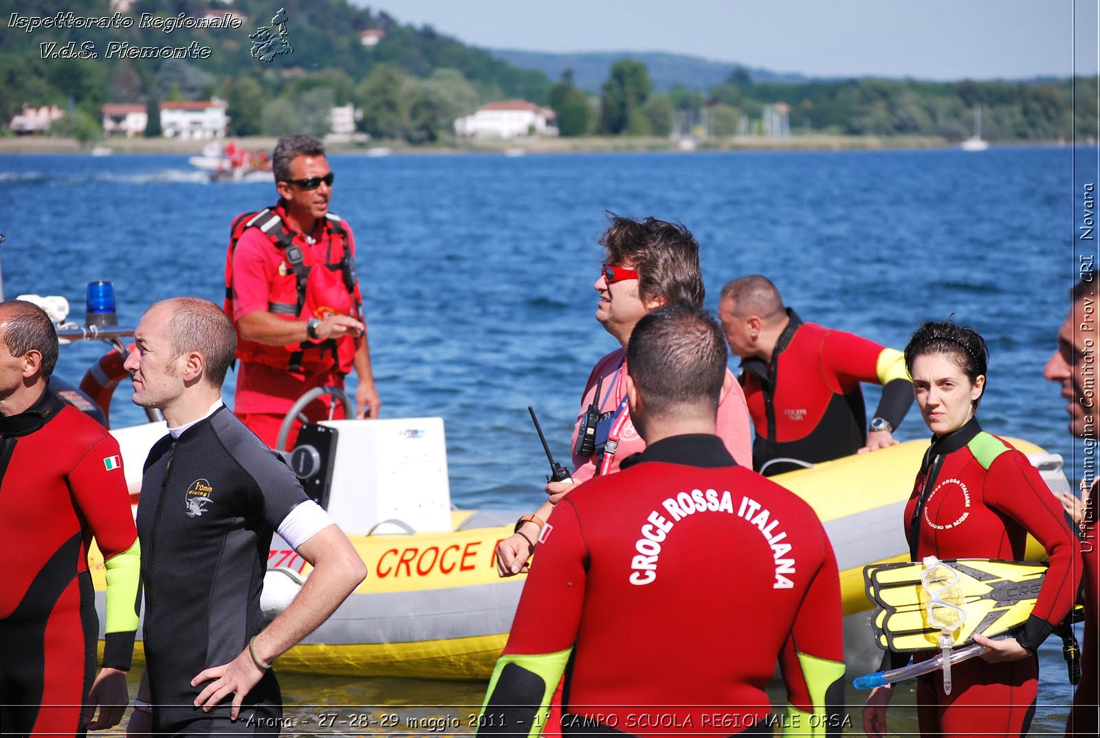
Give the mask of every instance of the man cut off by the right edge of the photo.
M 1071 293 L 1072 305 L 1058 331 L 1058 350 L 1046 363 L 1043 376 L 1062 385 L 1062 396 L 1069 403 L 1069 432 L 1092 442 L 1096 453 L 1097 406 L 1091 386 L 1097 375 L 1097 272 L 1081 275 Z M 1089 447 L 1086 447 L 1087 449 Z M 1063 504 L 1074 514 L 1084 530 L 1081 554 L 1085 559 L 1085 642 L 1081 649 L 1081 681 L 1074 695 L 1074 706 L 1066 723 L 1066 735 L 1100 734 L 1100 553 L 1097 552 L 1097 478 L 1086 466 L 1081 486 L 1087 491 L 1084 507 L 1071 493 Z

